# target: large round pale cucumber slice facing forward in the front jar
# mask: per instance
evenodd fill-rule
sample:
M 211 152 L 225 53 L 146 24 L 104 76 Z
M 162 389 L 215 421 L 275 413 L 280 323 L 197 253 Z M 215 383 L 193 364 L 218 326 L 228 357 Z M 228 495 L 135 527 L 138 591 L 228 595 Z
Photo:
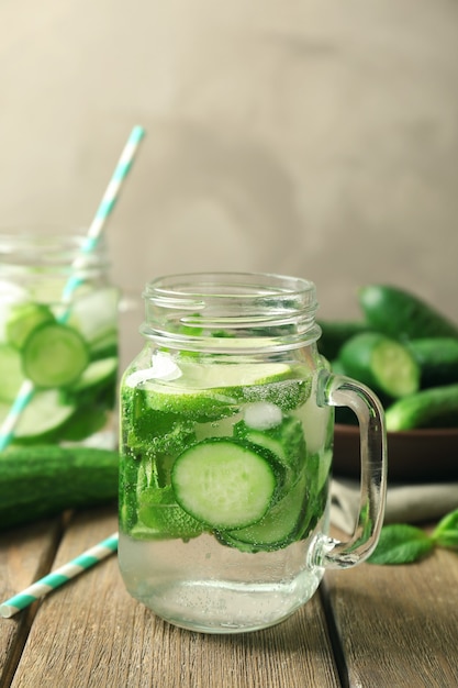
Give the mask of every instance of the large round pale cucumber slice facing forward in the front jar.
M 194 519 L 217 530 L 259 521 L 282 481 L 272 454 L 225 437 L 203 440 L 174 464 L 171 485 L 177 502 Z

